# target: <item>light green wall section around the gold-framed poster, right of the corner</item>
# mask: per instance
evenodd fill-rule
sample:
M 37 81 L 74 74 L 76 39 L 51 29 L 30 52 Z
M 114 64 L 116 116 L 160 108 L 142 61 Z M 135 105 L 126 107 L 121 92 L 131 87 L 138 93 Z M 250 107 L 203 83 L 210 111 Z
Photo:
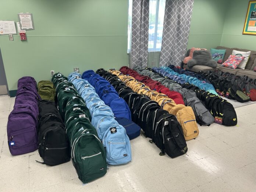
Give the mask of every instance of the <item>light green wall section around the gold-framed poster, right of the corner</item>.
M 221 46 L 256 50 L 256 36 L 242 35 L 249 0 L 230 0 L 226 8 Z

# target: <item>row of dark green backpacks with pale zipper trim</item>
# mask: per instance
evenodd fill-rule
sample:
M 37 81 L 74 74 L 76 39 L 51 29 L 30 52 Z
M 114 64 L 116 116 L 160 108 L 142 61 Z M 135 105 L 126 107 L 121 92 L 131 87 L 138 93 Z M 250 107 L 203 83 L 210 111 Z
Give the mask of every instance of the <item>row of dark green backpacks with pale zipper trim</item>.
M 85 101 L 77 89 L 60 73 L 51 81 L 56 88 L 58 109 L 65 124 L 69 153 L 78 178 L 87 183 L 107 172 L 106 152 L 99 139 Z

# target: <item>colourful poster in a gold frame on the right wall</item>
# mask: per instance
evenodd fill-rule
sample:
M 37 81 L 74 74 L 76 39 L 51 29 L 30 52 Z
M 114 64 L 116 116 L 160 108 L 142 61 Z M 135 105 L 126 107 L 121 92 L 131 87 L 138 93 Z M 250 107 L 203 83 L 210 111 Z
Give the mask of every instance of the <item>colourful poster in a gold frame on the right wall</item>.
M 256 1 L 249 1 L 243 35 L 256 35 Z

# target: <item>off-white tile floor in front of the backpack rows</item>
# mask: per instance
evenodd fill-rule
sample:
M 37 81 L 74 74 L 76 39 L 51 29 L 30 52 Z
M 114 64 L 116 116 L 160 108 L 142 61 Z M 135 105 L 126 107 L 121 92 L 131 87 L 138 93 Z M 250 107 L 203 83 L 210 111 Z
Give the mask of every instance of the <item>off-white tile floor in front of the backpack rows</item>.
M 139 136 L 132 162 L 109 166 L 107 174 L 82 186 L 71 161 L 49 167 L 37 151 L 11 156 L 6 136 L 14 98 L 0 96 L 0 191 L 256 191 L 256 104 L 237 108 L 238 125 L 199 127 L 188 153 L 171 159 Z

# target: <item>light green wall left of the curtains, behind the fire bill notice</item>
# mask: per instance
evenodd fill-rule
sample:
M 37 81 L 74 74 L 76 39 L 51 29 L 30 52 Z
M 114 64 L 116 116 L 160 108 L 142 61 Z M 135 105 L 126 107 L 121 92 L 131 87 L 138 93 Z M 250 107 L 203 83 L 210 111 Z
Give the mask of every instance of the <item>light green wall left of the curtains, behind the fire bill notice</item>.
M 50 70 L 68 75 L 128 65 L 127 0 L 5 0 L 0 20 L 18 21 L 17 13 L 32 13 L 35 30 L 27 41 L 0 36 L 9 90 L 23 76 L 50 80 Z

